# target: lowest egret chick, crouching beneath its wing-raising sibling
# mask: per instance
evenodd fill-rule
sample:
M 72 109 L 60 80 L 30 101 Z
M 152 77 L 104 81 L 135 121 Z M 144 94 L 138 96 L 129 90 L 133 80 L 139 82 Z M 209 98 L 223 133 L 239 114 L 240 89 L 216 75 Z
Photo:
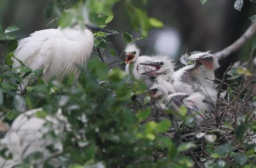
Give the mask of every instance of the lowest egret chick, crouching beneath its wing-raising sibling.
M 180 106 L 184 105 L 187 107 L 188 115 L 199 113 L 199 115 L 196 115 L 196 122 L 205 118 L 201 112 L 209 108 L 209 105 L 204 102 L 204 95 L 201 93 L 173 93 L 168 95 L 168 91 L 163 84 L 154 84 L 149 93 L 158 111 L 164 112 L 168 109 L 179 111 Z

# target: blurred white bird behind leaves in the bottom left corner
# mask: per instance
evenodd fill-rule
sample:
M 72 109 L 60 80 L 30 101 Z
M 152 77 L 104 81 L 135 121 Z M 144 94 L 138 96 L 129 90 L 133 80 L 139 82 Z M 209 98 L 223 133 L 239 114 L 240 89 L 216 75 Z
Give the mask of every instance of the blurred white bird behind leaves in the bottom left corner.
M 11 168 L 21 164 L 26 157 L 35 152 L 42 154 L 42 157 L 35 162 L 38 167 L 43 167 L 42 164 L 45 160 L 62 152 L 61 137 L 64 136 L 65 130 L 70 129 L 70 125 L 62 115 L 61 109 L 53 117 L 46 116 L 45 119 L 36 117 L 36 113 L 42 110 L 42 108 L 38 108 L 27 111 L 13 121 L 10 130 L 0 140 L 0 150 L 7 149 L 5 154 L 12 154 L 12 159 L 5 160 L 0 157 L 0 161 L 2 159 L 0 167 Z M 45 136 L 51 131 L 56 137 Z M 48 149 L 50 145 L 52 151 Z M 49 163 L 59 167 L 61 161 L 57 161 L 57 158 L 50 160 Z

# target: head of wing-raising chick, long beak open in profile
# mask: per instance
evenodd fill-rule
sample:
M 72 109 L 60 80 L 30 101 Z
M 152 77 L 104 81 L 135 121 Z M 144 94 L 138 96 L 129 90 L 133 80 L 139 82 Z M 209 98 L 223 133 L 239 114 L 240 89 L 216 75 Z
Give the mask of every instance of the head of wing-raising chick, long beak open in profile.
M 168 56 L 163 56 L 163 55 L 157 55 L 152 57 L 154 62 L 145 62 L 145 63 L 140 63 L 140 65 L 148 65 L 155 67 L 155 70 L 145 72 L 143 74 L 166 74 L 166 73 L 173 73 L 174 70 L 174 64 L 173 61 L 168 57 Z M 141 75 L 143 75 L 141 74 Z

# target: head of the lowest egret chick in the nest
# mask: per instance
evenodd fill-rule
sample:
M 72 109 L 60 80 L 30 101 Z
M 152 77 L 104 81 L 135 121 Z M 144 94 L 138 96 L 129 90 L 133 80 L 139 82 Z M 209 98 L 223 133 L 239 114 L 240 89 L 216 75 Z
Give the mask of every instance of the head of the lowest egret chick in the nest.
M 152 99 L 156 101 L 168 95 L 168 91 L 162 84 L 154 84 L 148 91 Z

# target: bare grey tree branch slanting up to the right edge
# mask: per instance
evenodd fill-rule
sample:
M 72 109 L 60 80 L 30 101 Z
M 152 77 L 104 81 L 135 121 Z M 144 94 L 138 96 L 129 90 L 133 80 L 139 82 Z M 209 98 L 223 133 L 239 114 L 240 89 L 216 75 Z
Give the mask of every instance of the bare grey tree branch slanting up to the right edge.
M 230 46 L 224 48 L 223 50 L 213 54 L 215 57 L 217 57 L 219 60 L 226 58 L 228 55 L 236 52 L 247 40 L 252 38 L 252 36 L 256 32 L 256 26 L 250 26 L 246 32 L 237 39 L 233 44 Z

